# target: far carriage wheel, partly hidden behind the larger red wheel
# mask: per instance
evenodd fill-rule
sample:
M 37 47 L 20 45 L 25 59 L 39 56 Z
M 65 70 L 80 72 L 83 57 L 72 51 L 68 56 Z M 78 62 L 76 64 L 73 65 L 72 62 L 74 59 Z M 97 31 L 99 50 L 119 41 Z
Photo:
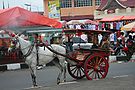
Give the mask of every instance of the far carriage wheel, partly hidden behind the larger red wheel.
M 67 64 L 69 74 L 75 79 L 82 79 L 85 77 L 84 68 L 81 65 Z

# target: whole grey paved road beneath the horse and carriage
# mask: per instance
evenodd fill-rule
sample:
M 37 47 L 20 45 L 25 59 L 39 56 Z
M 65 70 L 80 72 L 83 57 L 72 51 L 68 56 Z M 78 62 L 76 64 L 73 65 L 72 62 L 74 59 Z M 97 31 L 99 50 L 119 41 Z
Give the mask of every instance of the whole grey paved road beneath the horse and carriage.
M 58 86 L 56 85 L 58 69 L 47 67 L 37 72 L 38 84 L 42 87 L 35 90 L 128 90 L 128 88 L 135 90 L 134 68 L 134 62 L 121 64 L 111 63 L 106 79 L 97 81 L 82 79 L 75 81 L 67 74 L 67 82 L 72 84 Z M 31 87 L 31 85 L 32 82 L 28 69 L 0 72 L 0 90 L 24 90 Z M 123 89 L 123 86 L 126 89 Z M 109 87 L 114 89 L 109 89 Z

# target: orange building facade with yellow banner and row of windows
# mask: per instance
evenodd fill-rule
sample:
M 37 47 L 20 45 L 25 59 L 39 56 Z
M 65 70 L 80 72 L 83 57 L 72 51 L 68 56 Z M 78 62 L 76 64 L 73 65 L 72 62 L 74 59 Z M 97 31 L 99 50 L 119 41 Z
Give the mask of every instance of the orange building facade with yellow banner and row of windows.
M 60 20 L 94 19 L 101 0 L 44 0 L 44 15 Z

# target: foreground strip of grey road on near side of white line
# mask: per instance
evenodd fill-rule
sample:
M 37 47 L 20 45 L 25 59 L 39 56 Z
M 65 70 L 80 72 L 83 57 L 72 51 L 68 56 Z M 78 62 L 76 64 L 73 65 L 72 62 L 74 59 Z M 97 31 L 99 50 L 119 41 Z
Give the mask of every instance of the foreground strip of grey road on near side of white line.
M 70 84 L 29 88 L 28 90 L 135 90 L 135 76 L 106 78 L 96 81 L 81 80 Z

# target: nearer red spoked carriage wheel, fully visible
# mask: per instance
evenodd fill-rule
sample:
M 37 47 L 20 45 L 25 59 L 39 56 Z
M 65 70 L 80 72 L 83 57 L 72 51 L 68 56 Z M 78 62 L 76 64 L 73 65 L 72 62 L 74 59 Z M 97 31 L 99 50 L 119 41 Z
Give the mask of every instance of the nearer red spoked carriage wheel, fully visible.
M 94 54 L 88 57 L 84 64 L 85 75 L 88 80 L 105 78 L 108 68 L 108 60 Z

